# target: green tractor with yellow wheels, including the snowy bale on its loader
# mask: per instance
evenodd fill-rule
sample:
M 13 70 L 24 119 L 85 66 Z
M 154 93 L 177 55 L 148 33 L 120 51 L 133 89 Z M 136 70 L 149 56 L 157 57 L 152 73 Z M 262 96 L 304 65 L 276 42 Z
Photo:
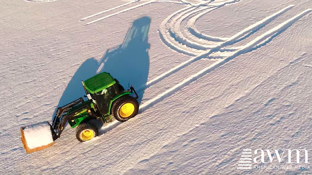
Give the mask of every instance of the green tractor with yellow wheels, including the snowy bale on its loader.
M 119 122 L 125 122 L 137 114 L 138 96 L 132 86 L 125 90 L 118 80 L 107 72 L 99 73 L 81 82 L 86 93 L 85 97 L 88 98 L 87 101 L 80 97 L 59 107 L 52 118 L 52 124 L 42 125 L 40 123 L 41 125 L 38 124 L 38 126 L 33 124 L 21 127 L 21 140 L 27 153 L 44 149 L 48 147 L 46 145 L 51 146 L 53 144 L 51 144 L 51 140 L 53 139 L 53 142 L 60 137 L 67 122 L 72 128 L 76 127 L 76 137 L 80 142 L 83 142 L 98 135 L 97 122 L 109 123 L 113 121 L 112 117 L 115 117 Z M 42 139 L 37 136 L 40 135 L 39 132 L 42 135 L 43 129 L 47 126 L 51 130 L 50 142 L 41 141 L 39 143 L 40 141 L 36 140 L 46 138 Z M 36 127 L 41 129 L 36 130 Z

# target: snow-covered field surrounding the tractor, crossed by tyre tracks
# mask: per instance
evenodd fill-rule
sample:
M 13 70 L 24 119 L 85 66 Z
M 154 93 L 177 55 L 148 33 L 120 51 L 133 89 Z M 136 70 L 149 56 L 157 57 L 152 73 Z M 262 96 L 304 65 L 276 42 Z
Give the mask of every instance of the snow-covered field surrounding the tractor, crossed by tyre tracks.
M 311 8 L 312 0 L 0 1 L 0 174 L 312 174 Z M 101 71 L 139 91 L 139 114 L 83 143 L 67 126 L 52 147 L 26 154 L 20 126 L 51 121 Z M 265 154 L 249 165 L 244 154 L 257 149 L 272 150 L 273 162 Z M 309 163 L 303 152 L 288 163 L 287 151 L 279 162 L 273 150 L 288 149 L 307 150 Z

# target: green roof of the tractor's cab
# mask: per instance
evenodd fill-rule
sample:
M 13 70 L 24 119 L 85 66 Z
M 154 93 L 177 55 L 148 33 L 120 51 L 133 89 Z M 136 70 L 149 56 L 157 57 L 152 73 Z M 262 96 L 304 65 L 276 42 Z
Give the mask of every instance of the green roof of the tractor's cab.
M 107 72 L 99 73 L 83 82 L 90 93 L 97 93 L 116 83 L 115 79 Z

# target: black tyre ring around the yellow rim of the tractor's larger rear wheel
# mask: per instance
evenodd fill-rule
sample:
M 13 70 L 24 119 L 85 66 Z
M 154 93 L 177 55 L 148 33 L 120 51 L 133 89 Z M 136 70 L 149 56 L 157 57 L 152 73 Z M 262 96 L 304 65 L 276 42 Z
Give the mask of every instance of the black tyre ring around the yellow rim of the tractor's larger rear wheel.
M 121 107 L 127 103 L 131 103 L 134 106 L 134 110 L 130 116 L 125 117 L 120 114 L 120 110 Z M 137 99 L 129 95 L 119 97 L 117 100 L 114 101 L 112 105 L 112 115 L 119 122 L 126 122 L 127 120 L 133 118 L 134 116 L 137 115 L 137 111 L 138 111 Z

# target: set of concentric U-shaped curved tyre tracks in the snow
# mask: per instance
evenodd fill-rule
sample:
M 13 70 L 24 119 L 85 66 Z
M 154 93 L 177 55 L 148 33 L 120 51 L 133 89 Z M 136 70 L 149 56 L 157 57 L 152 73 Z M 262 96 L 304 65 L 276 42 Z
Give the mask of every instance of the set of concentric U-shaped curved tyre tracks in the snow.
M 190 56 L 196 56 L 207 49 L 213 49 L 220 43 L 220 41 L 225 41 L 228 38 L 200 34 L 194 28 L 195 21 L 204 14 L 212 12 L 219 7 L 238 1 L 239 0 L 227 0 L 221 2 L 205 1 L 195 4 L 194 6 L 183 8 L 173 13 L 162 22 L 159 29 L 159 35 L 167 46 L 179 53 L 184 53 Z M 181 30 L 181 24 L 183 21 L 187 21 L 187 25 Z M 195 31 L 197 34 L 192 35 L 189 31 Z M 186 33 L 186 36 L 183 32 Z M 193 34 L 195 32 L 193 32 Z M 236 48 L 227 49 L 236 50 Z

